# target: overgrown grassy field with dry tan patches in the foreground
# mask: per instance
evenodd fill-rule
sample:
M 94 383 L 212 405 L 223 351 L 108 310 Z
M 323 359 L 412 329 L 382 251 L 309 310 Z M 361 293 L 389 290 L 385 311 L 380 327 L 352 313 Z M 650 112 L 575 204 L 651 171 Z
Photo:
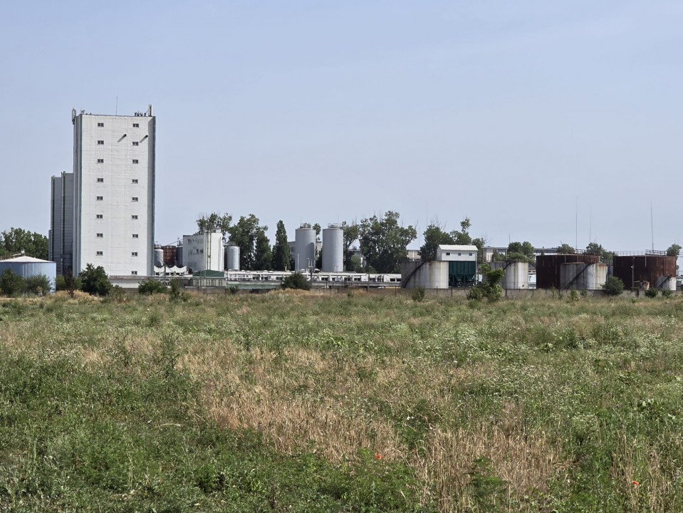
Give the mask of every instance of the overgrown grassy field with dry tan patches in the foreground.
M 0 510 L 683 512 L 683 301 L 0 300 Z

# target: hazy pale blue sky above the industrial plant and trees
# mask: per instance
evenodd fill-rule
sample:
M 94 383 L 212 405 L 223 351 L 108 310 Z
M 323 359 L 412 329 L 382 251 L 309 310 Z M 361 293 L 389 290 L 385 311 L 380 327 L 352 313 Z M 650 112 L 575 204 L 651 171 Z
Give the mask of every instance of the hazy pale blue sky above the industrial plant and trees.
M 155 239 L 389 210 L 489 245 L 683 240 L 680 1 L 33 1 L 0 16 L 0 231 L 48 233 L 71 109 L 157 116 Z

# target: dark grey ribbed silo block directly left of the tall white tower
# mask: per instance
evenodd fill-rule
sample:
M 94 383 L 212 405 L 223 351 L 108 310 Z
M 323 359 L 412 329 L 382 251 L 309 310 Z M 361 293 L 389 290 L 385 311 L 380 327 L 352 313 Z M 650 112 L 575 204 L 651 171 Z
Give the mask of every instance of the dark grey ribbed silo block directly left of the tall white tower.
M 66 274 L 72 266 L 73 173 L 52 177 L 48 259 L 55 262 L 57 274 Z

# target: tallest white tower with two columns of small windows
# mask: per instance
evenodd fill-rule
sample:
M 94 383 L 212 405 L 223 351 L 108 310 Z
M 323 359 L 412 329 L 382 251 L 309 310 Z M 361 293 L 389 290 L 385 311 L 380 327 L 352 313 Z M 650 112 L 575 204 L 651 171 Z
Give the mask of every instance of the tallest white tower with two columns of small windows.
M 135 115 L 72 111 L 73 273 L 152 276 L 155 127 L 152 105 Z

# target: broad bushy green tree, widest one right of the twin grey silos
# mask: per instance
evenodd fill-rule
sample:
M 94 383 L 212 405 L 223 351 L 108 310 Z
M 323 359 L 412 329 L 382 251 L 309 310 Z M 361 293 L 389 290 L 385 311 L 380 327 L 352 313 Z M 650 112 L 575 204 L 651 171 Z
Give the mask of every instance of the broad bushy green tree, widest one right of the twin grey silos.
M 417 237 L 412 226 L 398 224 L 400 214 L 391 210 L 383 216 L 373 215 L 360 222 L 360 251 L 367 265 L 378 273 L 400 272 L 402 260 L 407 258 L 407 246 Z

